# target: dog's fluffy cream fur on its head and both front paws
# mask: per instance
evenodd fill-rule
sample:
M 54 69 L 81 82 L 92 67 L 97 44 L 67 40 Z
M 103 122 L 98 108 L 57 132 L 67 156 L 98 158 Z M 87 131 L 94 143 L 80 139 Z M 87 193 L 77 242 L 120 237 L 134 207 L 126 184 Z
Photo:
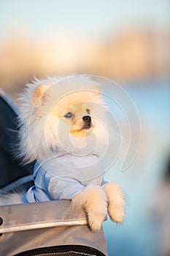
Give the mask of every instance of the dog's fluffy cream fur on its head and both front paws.
M 20 157 L 24 162 L 42 160 L 54 152 L 69 151 L 69 154 L 74 154 L 76 147 L 64 140 L 64 136 L 69 135 L 75 146 L 83 148 L 85 138 L 90 138 L 91 131 L 98 138 L 93 154 L 100 157 L 106 135 L 101 122 L 95 118 L 100 116 L 98 108 L 104 105 L 98 83 L 85 75 L 36 79 L 27 85 L 20 100 Z M 68 113 L 73 113 L 72 118 L 66 118 Z M 85 115 L 90 115 L 92 119 L 88 128 L 83 128 L 82 124 L 82 116 Z M 103 122 L 107 119 L 105 113 L 100 117 Z M 19 203 L 20 197 L 13 195 L 12 200 Z M 72 205 L 85 210 L 93 231 L 101 228 L 107 211 L 114 222 L 120 223 L 124 219 L 123 192 L 114 183 L 106 184 L 104 188 L 86 187 L 74 195 Z

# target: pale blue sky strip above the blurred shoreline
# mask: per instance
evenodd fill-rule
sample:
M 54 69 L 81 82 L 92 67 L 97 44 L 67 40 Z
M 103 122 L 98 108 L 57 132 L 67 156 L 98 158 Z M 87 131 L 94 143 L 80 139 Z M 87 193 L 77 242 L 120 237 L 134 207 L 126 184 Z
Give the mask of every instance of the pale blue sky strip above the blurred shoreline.
M 169 0 L 1 0 L 0 34 L 17 29 L 31 34 L 70 31 L 102 36 L 125 26 L 167 27 Z

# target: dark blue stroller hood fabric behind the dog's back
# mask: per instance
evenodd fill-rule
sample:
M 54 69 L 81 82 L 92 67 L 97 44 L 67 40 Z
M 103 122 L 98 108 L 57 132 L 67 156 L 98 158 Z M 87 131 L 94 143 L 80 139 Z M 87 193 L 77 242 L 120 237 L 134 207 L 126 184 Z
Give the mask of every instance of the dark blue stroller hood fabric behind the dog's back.
M 22 159 L 15 156 L 17 143 L 18 107 L 0 89 L 0 192 L 17 189 L 32 180 L 34 163 L 21 165 Z

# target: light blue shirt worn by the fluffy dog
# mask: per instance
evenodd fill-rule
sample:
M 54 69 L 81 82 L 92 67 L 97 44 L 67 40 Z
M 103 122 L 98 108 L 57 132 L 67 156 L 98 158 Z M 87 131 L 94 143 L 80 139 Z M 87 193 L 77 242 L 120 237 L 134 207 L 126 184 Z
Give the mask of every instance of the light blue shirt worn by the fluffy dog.
M 96 155 L 51 157 L 34 166 L 34 186 L 28 189 L 23 203 L 72 199 L 90 184 L 102 186 L 104 168 Z

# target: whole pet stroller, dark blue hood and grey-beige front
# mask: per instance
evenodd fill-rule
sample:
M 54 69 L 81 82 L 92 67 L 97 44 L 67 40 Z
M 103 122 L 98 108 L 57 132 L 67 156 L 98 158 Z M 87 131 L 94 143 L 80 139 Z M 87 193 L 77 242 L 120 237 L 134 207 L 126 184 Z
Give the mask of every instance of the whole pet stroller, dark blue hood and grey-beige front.
M 33 183 L 34 163 L 12 157 L 17 142 L 18 107 L 0 89 L 0 194 Z M 103 230 L 93 233 L 84 211 L 70 200 L 0 206 L 0 255 L 107 255 Z

